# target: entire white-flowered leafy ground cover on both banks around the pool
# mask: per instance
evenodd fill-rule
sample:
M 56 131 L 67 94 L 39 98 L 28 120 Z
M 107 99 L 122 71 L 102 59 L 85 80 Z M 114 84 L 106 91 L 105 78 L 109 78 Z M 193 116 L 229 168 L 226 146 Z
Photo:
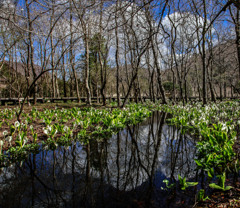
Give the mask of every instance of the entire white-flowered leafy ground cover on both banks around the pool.
M 239 207 L 238 101 L 210 103 L 204 107 L 201 103 L 183 106 L 149 102 L 130 104 L 124 109 L 31 108 L 23 112 L 21 122 L 16 121 L 17 108 L 4 108 L 0 110 L 0 165 L 24 158 L 40 146 L 55 149 L 58 145 L 69 145 L 73 138 L 83 144 L 91 139 L 108 138 L 126 125 L 141 122 L 155 110 L 169 113 L 169 125 L 178 126 L 183 134 L 187 132 L 197 139 L 198 154 L 193 159 L 206 184 L 196 195 L 196 207 Z M 179 175 L 181 190 L 197 185 Z

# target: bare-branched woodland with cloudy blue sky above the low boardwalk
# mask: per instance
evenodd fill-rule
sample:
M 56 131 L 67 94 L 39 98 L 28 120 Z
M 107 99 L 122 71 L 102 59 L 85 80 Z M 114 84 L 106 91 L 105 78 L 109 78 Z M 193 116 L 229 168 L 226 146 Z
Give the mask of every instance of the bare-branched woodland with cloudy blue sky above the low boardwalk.
M 128 97 L 239 96 L 239 8 L 238 0 L 0 0 L 0 97 L 105 105 L 112 96 L 123 106 Z

